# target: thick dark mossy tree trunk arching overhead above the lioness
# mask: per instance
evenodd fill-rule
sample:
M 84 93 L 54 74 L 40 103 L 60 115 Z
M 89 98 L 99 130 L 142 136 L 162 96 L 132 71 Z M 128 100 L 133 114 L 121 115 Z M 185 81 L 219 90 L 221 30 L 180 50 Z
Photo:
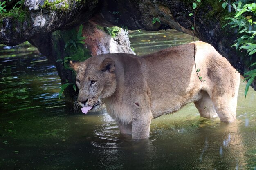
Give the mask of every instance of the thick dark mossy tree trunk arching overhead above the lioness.
M 231 48 L 237 38 L 236 29 L 222 28 L 227 23 L 225 18 L 233 16 L 234 12 L 228 13 L 217 0 L 202 0 L 197 9 L 193 10 L 193 2 L 193 0 L 63 0 L 47 6 L 42 5 L 45 3 L 37 5 L 33 0 L 25 0 L 25 5 L 20 7 L 23 11 L 27 11 L 25 13 L 27 18 L 23 22 L 15 17 L 0 17 L 2 20 L 0 42 L 7 45 L 19 44 L 33 39 L 38 34 L 44 36 L 58 29 L 72 28 L 88 22 L 89 19 L 101 26 L 115 25 L 150 31 L 176 29 L 190 35 L 193 35 L 191 29 L 193 26 L 195 36 L 214 46 L 240 74 L 255 69 L 256 66 L 249 67 L 256 62 L 255 56 L 249 58 L 245 52 Z M 194 13 L 195 21 L 189 13 Z M 160 22 L 153 24 L 154 17 Z M 44 41 L 44 38 L 40 40 Z M 251 86 L 256 90 L 256 80 Z

